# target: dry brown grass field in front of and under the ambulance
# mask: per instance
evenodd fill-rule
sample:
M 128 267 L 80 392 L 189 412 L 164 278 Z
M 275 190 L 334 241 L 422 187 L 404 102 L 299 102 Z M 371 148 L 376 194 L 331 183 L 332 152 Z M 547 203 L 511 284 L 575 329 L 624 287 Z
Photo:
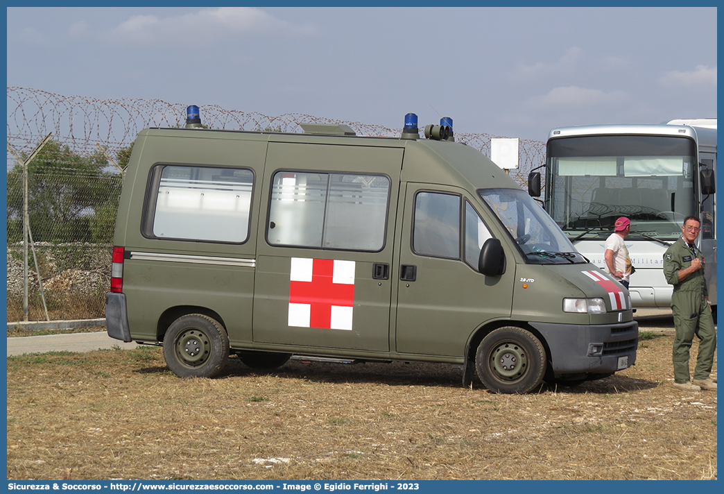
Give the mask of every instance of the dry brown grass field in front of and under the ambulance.
M 432 364 L 232 358 L 180 380 L 159 348 L 7 361 L 10 480 L 715 479 L 717 395 L 671 388 L 670 335 L 577 388 L 494 395 Z

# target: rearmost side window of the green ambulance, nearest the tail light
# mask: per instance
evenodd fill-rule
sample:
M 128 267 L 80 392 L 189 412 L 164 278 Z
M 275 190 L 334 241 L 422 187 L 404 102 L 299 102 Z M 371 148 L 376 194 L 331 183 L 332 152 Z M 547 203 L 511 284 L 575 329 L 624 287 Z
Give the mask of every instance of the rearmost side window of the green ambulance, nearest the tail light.
M 161 169 L 160 177 L 157 177 Z M 157 238 L 243 243 L 249 236 L 254 174 L 248 169 L 165 165 L 144 234 Z M 150 230 L 150 231 L 148 231 Z

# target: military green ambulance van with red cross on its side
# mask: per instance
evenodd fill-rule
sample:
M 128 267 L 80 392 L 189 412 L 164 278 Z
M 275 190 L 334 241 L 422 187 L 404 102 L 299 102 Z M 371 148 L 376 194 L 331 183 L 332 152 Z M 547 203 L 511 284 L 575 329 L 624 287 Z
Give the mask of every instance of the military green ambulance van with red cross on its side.
M 143 130 L 114 233 L 111 338 L 180 377 L 303 359 L 442 362 L 489 390 L 636 360 L 628 291 L 447 125 L 400 138 Z M 445 122 L 443 122 L 445 123 Z

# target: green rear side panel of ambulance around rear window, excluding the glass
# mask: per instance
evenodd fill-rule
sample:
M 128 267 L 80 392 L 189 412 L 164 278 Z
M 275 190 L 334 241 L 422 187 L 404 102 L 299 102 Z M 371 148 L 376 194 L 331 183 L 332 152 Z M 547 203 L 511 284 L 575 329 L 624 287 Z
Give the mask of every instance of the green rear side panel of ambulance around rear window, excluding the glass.
M 125 177 L 114 245 L 126 248 L 123 292 L 127 297 L 132 338 L 156 341 L 159 317 L 178 306 L 195 306 L 219 314 L 230 343 L 251 342 L 253 267 L 198 264 L 194 256 L 228 259 L 256 257 L 260 185 L 264 175 L 265 135 L 183 130 L 143 130 Z M 156 164 L 242 167 L 254 172 L 249 237 L 245 243 L 211 243 L 146 238 L 141 233 L 146 185 Z M 185 256 L 189 262 L 138 260 L 133 253 Z M 163 328 L 161 328 L 163 330 Z

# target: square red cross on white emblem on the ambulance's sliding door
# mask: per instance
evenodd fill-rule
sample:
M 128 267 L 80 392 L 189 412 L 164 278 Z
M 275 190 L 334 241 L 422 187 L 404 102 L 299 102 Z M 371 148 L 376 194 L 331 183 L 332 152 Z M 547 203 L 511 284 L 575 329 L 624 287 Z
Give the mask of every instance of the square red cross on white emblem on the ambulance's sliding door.
M 292 257 L 289 325 L 352 330 L 355 261 Z

